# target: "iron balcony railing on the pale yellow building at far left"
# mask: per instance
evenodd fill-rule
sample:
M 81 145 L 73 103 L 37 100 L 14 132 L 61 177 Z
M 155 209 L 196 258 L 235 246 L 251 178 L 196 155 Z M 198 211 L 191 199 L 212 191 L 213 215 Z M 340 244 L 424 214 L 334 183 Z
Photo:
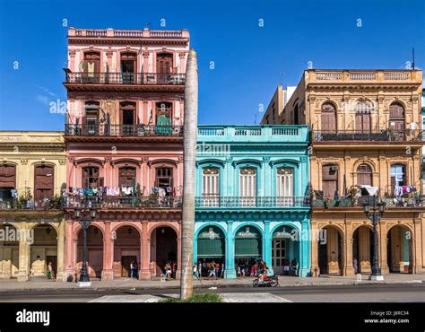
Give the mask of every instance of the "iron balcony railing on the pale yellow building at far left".
M 50 197 L 43 199 L 0 198 L 0 211 L 2 210 L 57 210 L 62 209 L 63 199 L 61 197 Z

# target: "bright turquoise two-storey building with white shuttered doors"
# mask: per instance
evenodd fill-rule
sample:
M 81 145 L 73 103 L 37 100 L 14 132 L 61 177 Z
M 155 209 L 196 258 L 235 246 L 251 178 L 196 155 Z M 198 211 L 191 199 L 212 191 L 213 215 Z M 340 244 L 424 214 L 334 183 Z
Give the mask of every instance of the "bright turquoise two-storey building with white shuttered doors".
M 197 141 L 194 261 L 234 278 L 261 260 L 283 274 L 295 258 L 308 276 L 308 127 L 199 126 Z

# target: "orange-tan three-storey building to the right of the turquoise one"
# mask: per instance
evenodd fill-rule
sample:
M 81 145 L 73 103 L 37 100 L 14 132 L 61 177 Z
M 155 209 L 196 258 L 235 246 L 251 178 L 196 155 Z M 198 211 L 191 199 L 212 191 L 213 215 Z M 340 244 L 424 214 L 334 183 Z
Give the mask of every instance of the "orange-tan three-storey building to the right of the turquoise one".
M 383 274 L 425 272 L 418 70 L 306 70 L 276 124 L 309 124 L 312 275 L 370 273 L 372 223 L 362 205 L 386 202 L 377 226 Z M 265 119 L 264 119 L 265 120 Z

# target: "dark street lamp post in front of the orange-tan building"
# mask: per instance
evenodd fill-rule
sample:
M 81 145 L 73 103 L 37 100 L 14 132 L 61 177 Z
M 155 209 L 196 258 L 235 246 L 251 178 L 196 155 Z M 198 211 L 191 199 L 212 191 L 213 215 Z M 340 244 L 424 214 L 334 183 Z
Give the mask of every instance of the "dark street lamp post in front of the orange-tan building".
M 369 280 L 384 280 L 384 275 L 381 274 L 377 258 L 377 223 L 386 210 L 386 202 L 378 202 L 377 196 L 369 197 L 368 203 L 363 205 L 363 211 L 373 224 L 373 258 L 372 258 L 372 273 Z

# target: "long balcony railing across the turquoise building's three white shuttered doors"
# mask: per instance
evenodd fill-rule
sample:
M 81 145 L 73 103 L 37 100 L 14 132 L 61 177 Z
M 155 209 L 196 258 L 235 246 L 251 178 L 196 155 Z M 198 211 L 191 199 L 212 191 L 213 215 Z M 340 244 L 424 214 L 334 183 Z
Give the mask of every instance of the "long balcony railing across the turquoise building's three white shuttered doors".
M 304 207 L 310 205 L 310 197 L 195 197 L 197 208 L 217 207 Z

